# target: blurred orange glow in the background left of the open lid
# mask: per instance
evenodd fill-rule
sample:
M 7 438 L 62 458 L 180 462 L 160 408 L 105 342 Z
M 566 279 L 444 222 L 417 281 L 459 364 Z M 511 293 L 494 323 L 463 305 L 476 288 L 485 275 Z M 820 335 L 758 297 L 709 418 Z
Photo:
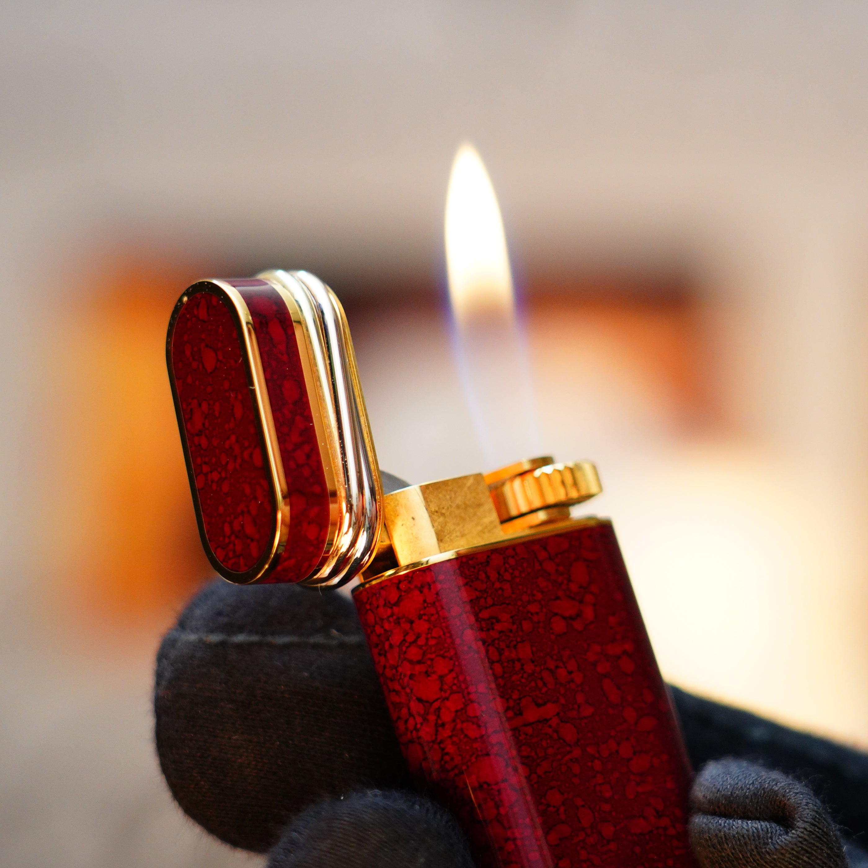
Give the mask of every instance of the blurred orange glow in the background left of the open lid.
M 57 324 L 50 454 L 64 506 L 48 608 L 121 647 L 130 629 L 168 627 L 210 572 L 163 356 L 175 297 L 197 273 L 118 251 L 82 275 Z

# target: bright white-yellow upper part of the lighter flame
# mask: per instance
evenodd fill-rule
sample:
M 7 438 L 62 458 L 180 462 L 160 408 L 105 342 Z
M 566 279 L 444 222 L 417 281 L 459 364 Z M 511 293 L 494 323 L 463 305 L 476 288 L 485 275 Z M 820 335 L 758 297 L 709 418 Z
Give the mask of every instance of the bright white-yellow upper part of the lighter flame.
M 446 268 L 457 325 L 515 316 L 500 207 L 477 149 L 458 148 L 446 194 Z

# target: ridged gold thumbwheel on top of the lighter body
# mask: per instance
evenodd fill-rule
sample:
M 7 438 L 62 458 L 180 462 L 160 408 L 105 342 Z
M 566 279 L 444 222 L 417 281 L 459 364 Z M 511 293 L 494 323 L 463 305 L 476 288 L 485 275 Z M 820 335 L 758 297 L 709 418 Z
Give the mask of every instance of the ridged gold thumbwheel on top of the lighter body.
M 602 491 L 594 464 L 561 464 L 548 455 L 494 470 L 485 482 L 507 532 L 569 518 L 570 506 Z

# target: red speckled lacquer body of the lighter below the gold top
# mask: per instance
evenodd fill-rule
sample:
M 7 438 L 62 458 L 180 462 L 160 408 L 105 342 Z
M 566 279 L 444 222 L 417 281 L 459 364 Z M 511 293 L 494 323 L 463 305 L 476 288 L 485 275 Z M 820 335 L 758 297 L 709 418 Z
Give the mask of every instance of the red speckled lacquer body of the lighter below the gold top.
M 687 757 L 595 522 L 362 584 L 412 771 L 481 865 L 687 868 Z

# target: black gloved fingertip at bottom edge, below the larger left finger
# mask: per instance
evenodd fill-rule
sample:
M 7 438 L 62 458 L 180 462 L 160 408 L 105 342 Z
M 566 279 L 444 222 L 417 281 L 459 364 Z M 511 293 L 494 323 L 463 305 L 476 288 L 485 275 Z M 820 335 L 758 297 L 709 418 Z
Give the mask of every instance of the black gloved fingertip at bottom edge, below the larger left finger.
M 455 820 L 411 792 L 357 792 L 307 808 L 266 868 L 473 868 Z

